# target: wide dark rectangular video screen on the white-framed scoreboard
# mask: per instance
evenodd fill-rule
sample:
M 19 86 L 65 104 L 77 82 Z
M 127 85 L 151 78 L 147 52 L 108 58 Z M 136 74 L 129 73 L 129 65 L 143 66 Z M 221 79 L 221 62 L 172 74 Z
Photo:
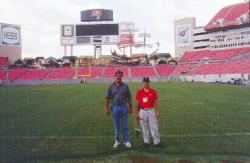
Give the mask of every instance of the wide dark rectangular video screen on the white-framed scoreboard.
M 76 25 L 76 36 L 119 35 L 118 24 Z

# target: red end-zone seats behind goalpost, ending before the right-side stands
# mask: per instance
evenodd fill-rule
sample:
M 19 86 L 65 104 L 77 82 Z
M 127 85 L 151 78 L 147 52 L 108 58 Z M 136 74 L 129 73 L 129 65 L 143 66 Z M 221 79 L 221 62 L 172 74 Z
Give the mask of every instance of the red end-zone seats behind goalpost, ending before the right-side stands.
M 83 78 L 84 76 L 96 78 L 105 77 L 113 78 L 116 71 L 123 71 L 123 77 L 157 77 L 157 72 L 160 76 L 170 75 L 175 66 L 159 65 L 152 66 L 108 66 L 108 67 L 91 67 L 80 69 L 74 68 L 58 68 L 58 69 L 27 69 L 27 68 L 12 68 L 7 71 L 8 80 L 44 80 L 44 79 L 71 79 L 74 76 Z M 130 71 L 130 72 L 129 72 Z M 155 72 L 157 71 L 157 72 Z M 2 75 L 3 77 L 5 76 Z

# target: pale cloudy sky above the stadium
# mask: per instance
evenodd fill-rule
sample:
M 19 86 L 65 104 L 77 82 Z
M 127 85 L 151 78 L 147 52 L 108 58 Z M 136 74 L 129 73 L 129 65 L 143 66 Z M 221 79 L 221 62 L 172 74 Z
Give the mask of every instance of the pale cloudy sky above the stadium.
M 240 2 L 244 0 L 1 0 L 0 22 L 21 25 L 23 57 L 58 58 L 64 54 L 60 24 L 80 23 L 81 10 L 112 9 L 115 22 L 135 22 L 140 31 L 151 33 L 152 44 L 160 42 L 160 52 L 174 54 L 175 19 L 196 17 L 197 26 L 204 26 L 222 7 Z M 77 47 L 74 54 L 91 55 L 93 47 Z

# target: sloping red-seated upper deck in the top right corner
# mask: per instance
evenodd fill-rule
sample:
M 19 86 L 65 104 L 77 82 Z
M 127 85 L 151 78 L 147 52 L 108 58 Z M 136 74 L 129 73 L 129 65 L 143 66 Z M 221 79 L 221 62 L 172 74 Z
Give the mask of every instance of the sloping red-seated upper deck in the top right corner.
M 243 2 L 224 7 L 205 26 L 205 29 L 214 30 L 249 24 L 249 8 L 249 2 Z

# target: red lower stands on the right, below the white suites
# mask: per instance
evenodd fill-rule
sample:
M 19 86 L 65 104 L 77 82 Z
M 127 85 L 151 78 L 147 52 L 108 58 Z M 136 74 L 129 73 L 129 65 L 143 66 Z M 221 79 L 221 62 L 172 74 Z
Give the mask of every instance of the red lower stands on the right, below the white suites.
M 180 80 L 185 81 L 249 81 L 250 48 L 186 52 L 172 74 L 180 75 Z

